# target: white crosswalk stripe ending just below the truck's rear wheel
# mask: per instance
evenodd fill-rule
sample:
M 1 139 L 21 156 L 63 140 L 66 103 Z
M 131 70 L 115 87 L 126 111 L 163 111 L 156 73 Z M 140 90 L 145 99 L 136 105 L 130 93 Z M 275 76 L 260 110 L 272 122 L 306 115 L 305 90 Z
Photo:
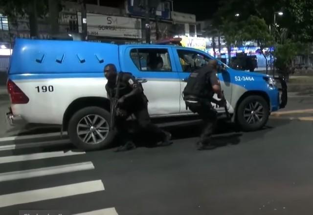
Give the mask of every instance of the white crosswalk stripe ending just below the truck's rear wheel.
M 79 154 L 85 154 L 85 151 L 82 151 L 82 152 L 52 151 L 52 152 L 41 152 L 41 153 L 34 153 L 34 154 L 13 155 L 13 156 L 0 157 L 0 164 L 19 162 L 19 161 L 39 160 L 39 159 L 53 158 L 53 157 L 64 157 L 64 156 L 79 155 Z

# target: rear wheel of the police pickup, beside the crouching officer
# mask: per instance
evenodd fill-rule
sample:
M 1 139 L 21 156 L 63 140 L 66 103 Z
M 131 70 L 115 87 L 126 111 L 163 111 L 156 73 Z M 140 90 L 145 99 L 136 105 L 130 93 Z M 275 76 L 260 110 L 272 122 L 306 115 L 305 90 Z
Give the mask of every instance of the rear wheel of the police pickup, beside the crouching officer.
M 98 125 L 100 127 L 97 129 Z M 115 134 L 109 131 L 109 128 L 110 113 L 107 110 L 99 107 L 87 107 L 73 114 L 69 120 L 67 131 L 69 139 L 77 148 L 92 151 L 108 148 L 112 144 Z

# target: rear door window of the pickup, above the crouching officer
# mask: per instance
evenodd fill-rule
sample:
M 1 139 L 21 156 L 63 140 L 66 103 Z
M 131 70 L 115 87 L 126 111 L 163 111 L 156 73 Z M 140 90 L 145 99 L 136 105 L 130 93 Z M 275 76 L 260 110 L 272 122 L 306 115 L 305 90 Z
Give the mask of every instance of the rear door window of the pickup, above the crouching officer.
M 140 71 L 172 71 L 170 56 L 167 49 L 132 49 L 131 58 Z

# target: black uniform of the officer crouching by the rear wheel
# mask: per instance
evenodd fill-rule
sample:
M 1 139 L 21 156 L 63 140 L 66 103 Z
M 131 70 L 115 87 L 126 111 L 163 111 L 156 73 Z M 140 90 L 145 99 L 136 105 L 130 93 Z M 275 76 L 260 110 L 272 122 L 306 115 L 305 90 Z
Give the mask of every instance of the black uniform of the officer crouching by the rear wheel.
M 120 72 L 119 73 L 120 86 L 119 86 L 119 98 L 133 91 L 136 87 L 142 86 L 136 81 L 131 73 Z M 115 96 L 116 83 L 109 83 L 106 85 L 106 90 L 110 98 Z M 119 99 L 118 98 L 118 99 Z M 126 111 L 126 117 L 115 117 L 115 125 L 117 130 L 121 133 L 121 138 L 124 143 L 131 140 L 129 128 L 125 123 L 125 120 L 132 114 L 136 117 L 138 125 L 145 131 L 155 133 L 159 135 L 163 141 L 168 137 L 168 133 L 158 128 L 156 125 L 151 123 L 151 119 L 148 112 L 148 99 L 143 93 L 134 95 L 125 99 L 123 104 L 118 106 L 119 108 Z

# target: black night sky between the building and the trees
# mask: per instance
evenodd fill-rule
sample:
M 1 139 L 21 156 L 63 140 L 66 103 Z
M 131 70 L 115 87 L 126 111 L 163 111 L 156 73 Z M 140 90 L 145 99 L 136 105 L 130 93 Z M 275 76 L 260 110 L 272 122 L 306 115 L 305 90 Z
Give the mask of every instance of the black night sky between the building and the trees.
M 198 21 L 210 19 L 220 0 L 174 0 L 174 11 L 195 14 Z

